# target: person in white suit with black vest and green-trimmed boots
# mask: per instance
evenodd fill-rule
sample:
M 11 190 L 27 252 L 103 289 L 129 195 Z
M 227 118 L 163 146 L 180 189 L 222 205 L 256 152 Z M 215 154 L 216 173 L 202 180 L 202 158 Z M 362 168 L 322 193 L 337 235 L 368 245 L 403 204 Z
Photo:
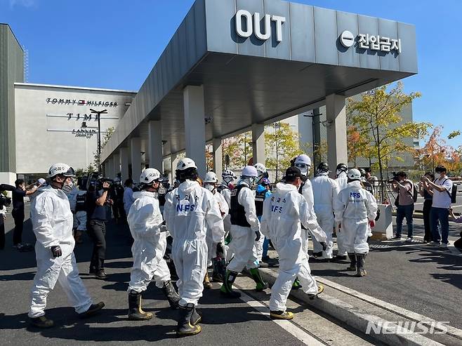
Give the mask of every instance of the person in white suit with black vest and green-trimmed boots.
M 232 290 L 237 274 L 246 267 L 253 281 L 256 282 L 256 291 L 268 288 L 258 271 L 258 259 L 255 241 L 261 237 L 260 222 L 255 208 L 255 194 L 251 188 L 255 186 L 258 172 L 253 166 L 245 166 L 237 186 L 231 192 L 231 242 L 229 251 L 234 257 L 227 265 L 225 281 L 220 293 L 230 298 L 238 298 L 240 293 Z

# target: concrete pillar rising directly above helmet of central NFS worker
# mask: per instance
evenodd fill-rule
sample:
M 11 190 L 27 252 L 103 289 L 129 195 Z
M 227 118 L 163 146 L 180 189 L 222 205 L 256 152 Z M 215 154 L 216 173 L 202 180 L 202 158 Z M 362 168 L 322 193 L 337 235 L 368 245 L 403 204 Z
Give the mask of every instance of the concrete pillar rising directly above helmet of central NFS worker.
M 186 157 L 196 162 L 199 176 L 206 173 L 204 87 L 186 86 L 183 90 L 185 109 Z

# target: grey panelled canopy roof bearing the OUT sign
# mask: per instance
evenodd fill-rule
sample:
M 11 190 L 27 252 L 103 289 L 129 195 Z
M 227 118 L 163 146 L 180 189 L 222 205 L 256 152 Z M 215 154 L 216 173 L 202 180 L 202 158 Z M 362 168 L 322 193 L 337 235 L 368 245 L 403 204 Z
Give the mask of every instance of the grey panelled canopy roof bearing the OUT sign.
M 239 10 L 246 13 L 236 20 Z M 254 24 L 258 17 L 260 28 Z M 271 27 L 266 32 L 265 20 Z M 239 36 L 238 26 L 251 35 Z M 342 44 L 345 31 L 354 41 L 349 48 Z M 258 39 L 269 32 L 270 38 Z M 385 51 L 383 45 L 361 48 L 360 35 L 384 39 Z M 395 46 L 388 52 L 387 39 L 399 42 L 400 51 Z M 206 140 L 211 140 L 319 107 L 327 95 L 348 97 L 416 73 L 412 25 L 279 0 L 197 0 L 107 142 L 102 160 L 126 147 L 129 138 L 147 138 L 150 120 L 161 121 L 165 156 L 184 150 L 188 85 L 204 86 L 205 117 L 213 119 Z

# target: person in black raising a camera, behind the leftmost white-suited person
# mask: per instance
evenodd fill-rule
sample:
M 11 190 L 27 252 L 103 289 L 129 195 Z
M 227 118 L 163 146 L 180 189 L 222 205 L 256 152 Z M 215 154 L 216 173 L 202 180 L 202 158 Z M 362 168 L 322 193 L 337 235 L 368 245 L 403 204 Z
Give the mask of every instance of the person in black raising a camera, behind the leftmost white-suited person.
M 90 274 L 95 274 L 96 279 L 107 278 L 104 270 L 106 257 L 106 208 L 107 193 L 110 189 L 109 182 L 103 182 L 103 194 L 100 194 L 95 184 L 88 187 L 86 193 L 86 232 L 93 241 L 93 253 L 90 262 Z

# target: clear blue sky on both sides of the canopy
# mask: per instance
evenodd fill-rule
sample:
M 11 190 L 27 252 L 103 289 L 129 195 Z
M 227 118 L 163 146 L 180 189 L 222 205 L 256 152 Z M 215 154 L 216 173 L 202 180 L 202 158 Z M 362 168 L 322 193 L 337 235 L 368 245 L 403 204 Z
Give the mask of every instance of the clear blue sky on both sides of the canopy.
M 30 83 L 138 90 L 193 2 L 0 0 L 0 22 L 29 51 Z M 462 1 L 296 2 L 416 25 L 419 73 L 404 79 L 422 93 L 414 119 L 462 131 Z

